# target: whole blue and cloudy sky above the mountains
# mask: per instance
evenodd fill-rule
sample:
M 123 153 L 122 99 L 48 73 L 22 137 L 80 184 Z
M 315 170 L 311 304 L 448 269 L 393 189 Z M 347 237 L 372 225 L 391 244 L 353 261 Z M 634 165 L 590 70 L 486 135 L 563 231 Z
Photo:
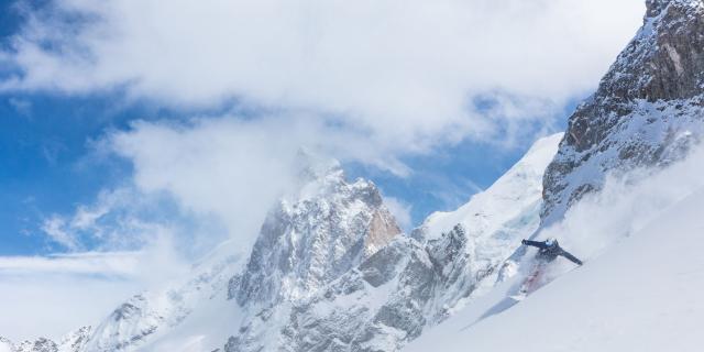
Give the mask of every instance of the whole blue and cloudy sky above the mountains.
M 80 283 L 97 288 L 56 290 L 64 315 L 96 296 L 109 311 L 154 280 L 54 265 L 67 255 L 130 253 L 177 274 L 223 240 L 246 251 L 301 147 L 375 182 L 410 230 L 563 130 L 644 10 L 640 0 L 0 1 L 0 285 L 13 287 L 0 305 Z M 37 279 L 47 275 L 66 279 Z M 113 294 L 97 295 L 106 285 Z M 0 334 L 42 334 L 37 314 Z

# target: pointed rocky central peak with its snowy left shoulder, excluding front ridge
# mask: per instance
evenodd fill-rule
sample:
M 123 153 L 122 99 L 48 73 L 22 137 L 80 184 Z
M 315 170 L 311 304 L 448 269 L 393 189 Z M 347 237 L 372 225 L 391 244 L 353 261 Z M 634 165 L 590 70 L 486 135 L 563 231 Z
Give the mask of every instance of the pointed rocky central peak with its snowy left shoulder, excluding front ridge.
M 212 351 L 241 337 L 268 343 L 267 311 L 315 295 L 400 234 L 376 187 L 301 153 L 298 184 L 274 207 L 249 258 L 224 243 L 182 283 L 136 295 L 72 351 Z

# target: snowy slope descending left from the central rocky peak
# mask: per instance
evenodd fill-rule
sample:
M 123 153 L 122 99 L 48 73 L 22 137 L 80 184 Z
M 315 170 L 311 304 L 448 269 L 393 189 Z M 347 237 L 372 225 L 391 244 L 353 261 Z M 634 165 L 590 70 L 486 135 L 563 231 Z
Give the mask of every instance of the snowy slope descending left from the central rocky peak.
M 85 345 L 70 352 L 163 351 L 158 343 L 164 340 L 179 341 L 179 349 L 169 349 L 172 351 L 217 348 L 226 334 L 222 327 L 216 324 L 220 321 L 218 318 L 238 314 L 237 305 L 228 304 L 226 297 L 229 278 L 242 267 L 243 257 L 239 253 L 238 243 L 222 243 L 206 260 L 197 263 L 183 280 L 164 290 L 145 292 L 128 299 L 95 329 Z M 202 311 L 213 311 L 212 306 L 219 307 L 215 309 L 219 312 L 217 317 L 211 317 L 210 321 L 198 319 Z M 193 328 L 194 321 L 207 323 L 193 331 L 184 331 L 182 324 Z M 209 339 L 200 336 L 202 330 L 207 331 Z M 196 341 L 206 348 L 187 348 Z

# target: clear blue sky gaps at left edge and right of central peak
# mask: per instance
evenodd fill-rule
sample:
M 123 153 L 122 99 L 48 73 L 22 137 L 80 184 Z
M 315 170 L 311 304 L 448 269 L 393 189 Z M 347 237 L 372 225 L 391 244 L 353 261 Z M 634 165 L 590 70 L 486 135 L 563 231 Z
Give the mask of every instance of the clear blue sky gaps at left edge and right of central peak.
M 110 101 L 110 96 L 0 96 L 0 255 L 63 251 L 42 233 L 42 221 L 53 213 L 70 215 L 101 189 L 129 177 L 131 165 L 119 157 L 96 156 L 94 141 L 107 131 L 128 129 L 133 119 L 180 119 L 176 112 L 160 113 L 139 105 L 116 109 Z M 350 163 L 345 169 L 350 178 L 373 179 L 384 195 L 413 205 L 413 223 L 418 224 L 429 212 L 451 210 L 490 186 L 522 155 L 529 146 L 529 141 L 524 142 L 501 148 L 465 141 L 431 155 L 406 157 L 410 177 L 361 163 Z

